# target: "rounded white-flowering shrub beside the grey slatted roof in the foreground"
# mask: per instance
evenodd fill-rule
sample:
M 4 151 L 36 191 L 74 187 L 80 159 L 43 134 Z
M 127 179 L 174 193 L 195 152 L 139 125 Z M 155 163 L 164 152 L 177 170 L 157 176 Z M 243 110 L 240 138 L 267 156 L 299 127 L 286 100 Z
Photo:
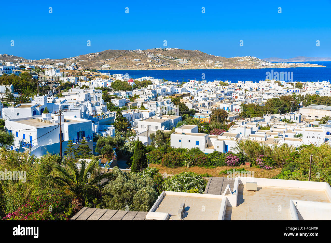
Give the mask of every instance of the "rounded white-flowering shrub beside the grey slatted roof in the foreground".
M 167 179 L 164 183 L 165 191 L 180 191 L 188 192 L 189 190 L 197 190 L 203 193 L 205 183 L 201 176 L 193 172 L 182 172 Z

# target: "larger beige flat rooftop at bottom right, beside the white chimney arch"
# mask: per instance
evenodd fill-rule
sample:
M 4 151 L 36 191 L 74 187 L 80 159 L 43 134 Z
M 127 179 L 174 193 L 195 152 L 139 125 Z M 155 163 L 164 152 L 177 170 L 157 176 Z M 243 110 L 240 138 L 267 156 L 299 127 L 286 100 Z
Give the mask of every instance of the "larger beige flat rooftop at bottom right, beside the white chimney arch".
M 258 184 L 258 190 L 254 192 L 239 186 L 237 207 L 227 206 L 224 220 L 292 220 L 291 199 L 330 203 L 325 190 L 261 187 Z

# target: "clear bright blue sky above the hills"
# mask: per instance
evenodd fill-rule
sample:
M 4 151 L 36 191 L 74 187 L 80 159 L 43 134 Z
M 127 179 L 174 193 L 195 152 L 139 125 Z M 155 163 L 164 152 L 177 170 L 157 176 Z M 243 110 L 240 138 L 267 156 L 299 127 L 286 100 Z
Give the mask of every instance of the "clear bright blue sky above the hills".
M 75 2 L 4 1 L 0 53 L 60 59 L 163 47 L 166 40 L 169 48 L 223 57 L 331 57 L 331 1 Z

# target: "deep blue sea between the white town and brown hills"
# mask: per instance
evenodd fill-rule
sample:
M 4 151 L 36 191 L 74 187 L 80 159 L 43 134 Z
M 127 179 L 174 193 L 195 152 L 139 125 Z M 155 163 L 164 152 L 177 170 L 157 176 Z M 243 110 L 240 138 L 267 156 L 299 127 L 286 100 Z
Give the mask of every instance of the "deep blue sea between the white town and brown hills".
M 273 71 L 278 72 L 293 72 L 293 81 L 329 81 L 331 78 L 331 61 L 311 61 L 297 63 L 312 63 L 326 67 L 287 67 L 273 68 Z M 111 74 L 128 73 L 133 79 L 144 76 L 152 76 L 154 78 L 173 81 L 187 82 L 191 79 L 202 80 L 202 75 L 205 74 L 207 81 L 230 80 L 232 83 L 238 81 L 254 81 L 266 79 L 266 72 L 271 72 L 271 68 L 261 69 L 194 69 L 194 70 L 99 70 L 101 72 L 110 72 Z

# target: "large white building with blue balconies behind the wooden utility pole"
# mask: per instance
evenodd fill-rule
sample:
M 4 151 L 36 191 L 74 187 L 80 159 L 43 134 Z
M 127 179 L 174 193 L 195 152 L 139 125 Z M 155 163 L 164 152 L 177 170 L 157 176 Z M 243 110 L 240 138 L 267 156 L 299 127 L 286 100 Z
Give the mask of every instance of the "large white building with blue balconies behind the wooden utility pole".
M 16 151 L 30 150 L 35 156 L 58 154 L 60 152 L 59 115 L 43 113 L 33 117 L 6 120 L 8 132 L 15 136 L 11 146 Z M 77 148 L 85 140 L 93 151 L 92 121 L 62 116 L 62 151 L 64 153 L 68 140 L 72 140 Z

